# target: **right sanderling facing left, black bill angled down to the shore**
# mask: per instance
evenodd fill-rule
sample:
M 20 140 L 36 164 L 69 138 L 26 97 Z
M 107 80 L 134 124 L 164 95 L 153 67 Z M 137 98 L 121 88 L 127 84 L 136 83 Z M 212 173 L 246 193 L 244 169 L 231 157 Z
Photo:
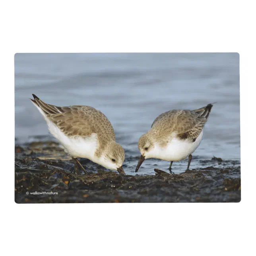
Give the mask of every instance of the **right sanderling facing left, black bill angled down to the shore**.
M 213 103 L 214 104 L 214 103 Z M 196 110 L 171 110 L 157 116 L 151 129 L 138 142 L 141 156 L 135 172 L 147 158 L 180 161 L 188 157 L 188 168 L 192 153 L 203 138 L 204 124 L 208 120 L 213 104 Z

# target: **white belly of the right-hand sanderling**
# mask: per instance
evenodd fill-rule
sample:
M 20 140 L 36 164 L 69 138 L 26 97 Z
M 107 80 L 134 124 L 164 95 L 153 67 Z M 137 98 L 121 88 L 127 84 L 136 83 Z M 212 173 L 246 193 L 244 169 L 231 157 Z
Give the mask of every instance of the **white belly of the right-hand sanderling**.
M 199 146 L 203 138 L 203 131 L 200 133 L 195 142 L 189 140 L 179 140 L 173 138 L 166 147 L 155 146 L 153 158 L 162 159 L 165 161 L 180 161 L 192 154 Z

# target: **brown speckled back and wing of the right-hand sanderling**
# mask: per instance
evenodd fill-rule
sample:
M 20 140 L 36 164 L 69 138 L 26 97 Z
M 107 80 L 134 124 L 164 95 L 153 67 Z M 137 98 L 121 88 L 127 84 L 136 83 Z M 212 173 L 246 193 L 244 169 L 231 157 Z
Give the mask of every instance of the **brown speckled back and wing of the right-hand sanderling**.
M 206 107 L 194 111 L 167 111 L 155 119 L 151 130 L 153 132 L 157 130 L 157 134 L 161 134 L 160 139 L 163 143 L 167 143 L 167 138 L 170 137 L 173 132 L 176 134 L 176 137 L 180 139 L 190 139 L 194 142 L 204 128 L 211 107 L 212 105 L 209 104 Z

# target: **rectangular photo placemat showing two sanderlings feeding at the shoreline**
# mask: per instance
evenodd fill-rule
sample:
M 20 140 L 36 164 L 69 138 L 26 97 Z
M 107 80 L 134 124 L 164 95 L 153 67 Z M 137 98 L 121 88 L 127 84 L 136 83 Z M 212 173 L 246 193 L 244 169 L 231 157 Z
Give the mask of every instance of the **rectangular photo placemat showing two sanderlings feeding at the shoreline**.
M 238 53 L 16 53 L 15 202 L 240 202 Z

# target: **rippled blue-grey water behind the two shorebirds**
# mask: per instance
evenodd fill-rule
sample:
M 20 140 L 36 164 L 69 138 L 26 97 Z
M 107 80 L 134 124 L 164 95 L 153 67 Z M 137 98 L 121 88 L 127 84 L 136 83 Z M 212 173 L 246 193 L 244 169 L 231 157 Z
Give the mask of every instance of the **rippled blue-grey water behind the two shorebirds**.
M 237 53 L 16 54 L 16 143 L 48 134 L 28 99 L 31 93 L 53 105 L 89 105 L 102 111 L 124 147 L 126 174 L 134 174 L 138 139 L 159 114 L 217 101 L 190 169 L 202 167 L 202 160 L 213 155 L 240 160 Z M 173 163 L 173 171 L 180 173 L 186 165 L 187 160 Z M 138 174 L 168 167 L 166 161 L 147 159 Z

